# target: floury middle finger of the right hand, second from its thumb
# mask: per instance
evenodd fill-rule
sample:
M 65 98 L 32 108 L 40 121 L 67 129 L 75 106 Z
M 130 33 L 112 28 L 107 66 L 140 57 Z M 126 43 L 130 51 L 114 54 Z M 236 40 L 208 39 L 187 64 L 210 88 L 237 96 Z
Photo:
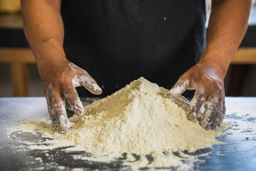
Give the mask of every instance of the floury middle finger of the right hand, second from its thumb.
M 203 120 L 201 120 L 201 126 L 209 130 L 211 129 L 213 119 L 215 118 L 216 115 L 216 104 L 218 103 L 218 98 L 208 98 L 205 102 L 205 110 L 203 113 Z

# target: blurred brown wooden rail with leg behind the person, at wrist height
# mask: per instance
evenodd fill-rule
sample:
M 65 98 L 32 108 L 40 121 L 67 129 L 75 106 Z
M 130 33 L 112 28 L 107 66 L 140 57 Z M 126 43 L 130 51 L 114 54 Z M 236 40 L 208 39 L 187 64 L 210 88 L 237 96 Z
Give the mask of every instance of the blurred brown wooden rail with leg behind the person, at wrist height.
M 0 63 L 10 63 L 14 97 L 28 96 L 28 63 L 36 63 L 30 48 L 0 48 Z M 231 64 L 256 64 L 256 48 L 239 48 Z

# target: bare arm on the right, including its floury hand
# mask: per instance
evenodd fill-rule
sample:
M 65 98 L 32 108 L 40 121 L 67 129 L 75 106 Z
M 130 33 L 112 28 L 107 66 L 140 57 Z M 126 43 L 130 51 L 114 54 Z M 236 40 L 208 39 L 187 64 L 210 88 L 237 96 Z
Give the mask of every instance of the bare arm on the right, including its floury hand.
M 224 78 L 247 29 L 250 0 L 213 0 L 206 48 L 201 60 L 183 73 L 169 95 L 196 90 L 189 117 L 206 130 L 220 126 L 225 115 Z M 205 104 L 203 116 L 198 113 Z

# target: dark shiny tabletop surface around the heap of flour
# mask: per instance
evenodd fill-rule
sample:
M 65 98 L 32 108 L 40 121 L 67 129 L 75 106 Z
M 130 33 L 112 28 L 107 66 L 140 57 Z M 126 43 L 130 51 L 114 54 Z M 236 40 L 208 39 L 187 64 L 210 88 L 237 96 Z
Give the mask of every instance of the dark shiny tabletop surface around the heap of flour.
M 86 103 L 92 100 L 95 99 L 82 99 Z M 194 170 L 256 170 L 256 98 L 226 98 L 226 108 L 225 121 L 232 128 L 228 135 L 218 140 L 228 144 L 189 154 L 210 153 L 198 157 L 200 162 L 193 163 Z M 29 150 L 26 143 L 22 143 L 22 140 L 38 140 L 39 135 L 9 135 L 9 129 L 18 121 L 39 119 L 48 119 L 44 98 L 0 98 L 0 170 L 71 170 L 78 167 L 84 170 L 129 170 L 122 165 L 124 159 L 113 163 L 74 160 L 72 155 L 81 152 L 48 150 L 50 157 L 47 157 L 46 150 Z

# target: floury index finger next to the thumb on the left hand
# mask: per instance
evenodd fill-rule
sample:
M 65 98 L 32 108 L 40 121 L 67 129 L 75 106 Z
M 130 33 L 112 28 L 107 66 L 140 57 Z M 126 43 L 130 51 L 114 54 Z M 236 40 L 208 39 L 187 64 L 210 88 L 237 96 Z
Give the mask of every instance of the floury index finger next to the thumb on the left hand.
M 65 86 L 63 92 L 74 113 L 76 115 L 84 113 L 85 109 L 82 106 L 82 102 L 78 96 L 78 92 L 75 90 L 75 87 Z

